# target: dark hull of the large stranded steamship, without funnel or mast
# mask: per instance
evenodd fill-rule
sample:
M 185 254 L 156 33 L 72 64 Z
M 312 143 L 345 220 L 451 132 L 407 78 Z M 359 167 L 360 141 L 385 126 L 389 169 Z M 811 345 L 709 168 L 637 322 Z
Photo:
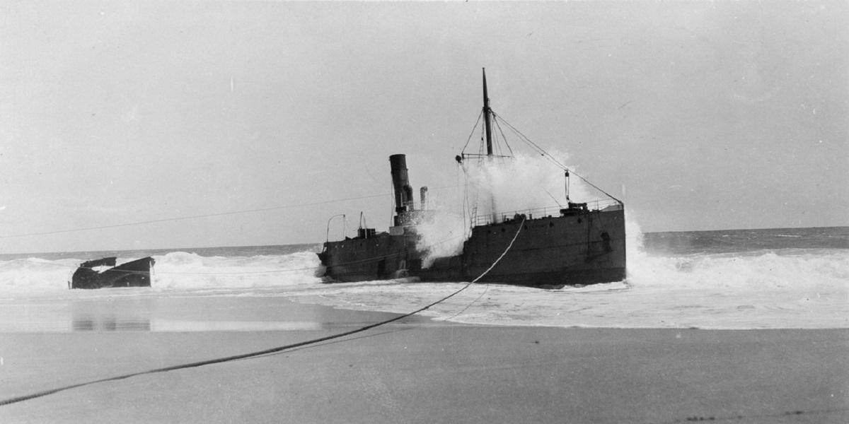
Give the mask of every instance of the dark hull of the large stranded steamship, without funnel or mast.
M 426 267 L 426 248 L 417 245 L 418 238 L 408 227 L 402 235 L 328 242 L 319 257 L 326 275 L 339 282 L 413 276 L 425 282 L 562 287 L 618 282 L 626 275 L 621 208 L 475 226 L 462 254 Z

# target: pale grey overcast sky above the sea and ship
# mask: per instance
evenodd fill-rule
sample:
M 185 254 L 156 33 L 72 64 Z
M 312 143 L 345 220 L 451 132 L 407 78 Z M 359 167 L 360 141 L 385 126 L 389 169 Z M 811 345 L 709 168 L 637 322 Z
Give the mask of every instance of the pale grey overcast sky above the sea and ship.
M 457 183 L 483 67 L 492 108 L 644 231 L 846 226 L 847 24 L 845 2 L 3 2 L 0 253 L 385 228 L 390 154 Z M 60 232 L 93 226 L 115 227 Z

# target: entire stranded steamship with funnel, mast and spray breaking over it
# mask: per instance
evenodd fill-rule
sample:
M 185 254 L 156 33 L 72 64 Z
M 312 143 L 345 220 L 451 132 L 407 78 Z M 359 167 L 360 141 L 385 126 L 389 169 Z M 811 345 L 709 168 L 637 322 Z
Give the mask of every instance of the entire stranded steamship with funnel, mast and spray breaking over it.
M 623 280 L 626 269 L 624 204 L 600 189 L 609 199 L 572 202 L 569 192 L 571 170 L 506 121 L 497 118 L 490 107 L 484 71 L 483 109 L 479 119 L 479 123 L 483 121 L 484 132 L 481 150 L 467 153 L 464 149 L 455 158 L 467 181 L 483 188 L 474 199 L 469 199 L 469 215 L 464 216 L 468 219 L 464 222 L 468 228 L 464 235 L 468 237 L 465 237 L 462 248 L 435 248 L 442 243 L 451 246 L 451 238 L 458 236 L 443 240 L 433 240 L 428 236 L 433 234 L 435 226 L 445 223 L 435 210 L 425 208 L 426 187 L 420 190 L 417 207 L 406 156 L 393 154 L 389 158 L 396 205 L 393 226 L 388 232 L 361 226 L 357 237 L 333 242 L 328 240 L 318 254 L 327 267 L 327 275 L 340 282 L 399 277 L 414 277 L 424 282 L 453 282 L 471 281 L 480 276 L 479 282 L 543 288 Z M 498 182 L 495 167 L 502 165 L 504 159 L 512 159 L 512 155 L 498 152 L 498 137 L 495 136 L 498 133 L 503 136 L 502 124 L 564 172 L 565 205 L 502 209 L 503 205 L 497 204 L 497 194 L 492 191 L 496 187 L 493 182 Z M 506 144 L 506 138 L 504 142 L 506 148 L 512 151 Z M 468 142 L 466 145 L 468 147 Z M 470 170 L 475 165 L 476 170 Z M 457 232 L 455 224 L 449 225 L 452 228 L 449 234 Z M 439 255 L 446 253 L 445 256 Z

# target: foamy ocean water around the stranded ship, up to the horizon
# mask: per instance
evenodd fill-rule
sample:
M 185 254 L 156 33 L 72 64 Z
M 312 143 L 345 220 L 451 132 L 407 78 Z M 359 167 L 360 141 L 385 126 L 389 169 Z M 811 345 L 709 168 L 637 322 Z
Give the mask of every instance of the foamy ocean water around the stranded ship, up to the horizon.
M 475 284 L 423 314 L 495 326 L 849 327 L 849 227 L 628 232 L 633 239 L 625 281 L 559 290 Z M 412 280 L 328 284 L 315 254 L 320 248 L 300 244 L 0 255 L 0 308 L 23 310 L 20 315 L 25 314 L 22 304 L 80 300 L 109 304 L 283 297 L 406 313 L 464 286 Z M 76 265 L 111 255 L 119 263 L 153 256 L 152 287 L 68 289 Z M 0 325 L 0 330 L 20 330 L 14 325 Z

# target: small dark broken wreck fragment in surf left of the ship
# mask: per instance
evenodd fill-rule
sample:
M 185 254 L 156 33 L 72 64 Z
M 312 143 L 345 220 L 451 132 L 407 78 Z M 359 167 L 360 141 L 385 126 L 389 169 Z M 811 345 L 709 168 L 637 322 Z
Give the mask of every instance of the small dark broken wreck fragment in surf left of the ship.
M 70 288 L 150 287 L 150 268 L 154 259 L 147 257 L 115 266 L 115 258 L 89 260 L 80 264 L 70 279 Z M 96 271 L 100 266 L 112 266 Z

